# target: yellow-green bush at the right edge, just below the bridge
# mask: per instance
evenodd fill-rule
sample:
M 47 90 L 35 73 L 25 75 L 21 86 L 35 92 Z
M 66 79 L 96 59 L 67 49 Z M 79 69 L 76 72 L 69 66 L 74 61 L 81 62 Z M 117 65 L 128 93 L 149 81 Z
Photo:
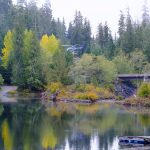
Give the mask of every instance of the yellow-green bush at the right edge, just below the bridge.
M 150 83 L 142 83 L 137 94 L 139 97 L 150 97 Z

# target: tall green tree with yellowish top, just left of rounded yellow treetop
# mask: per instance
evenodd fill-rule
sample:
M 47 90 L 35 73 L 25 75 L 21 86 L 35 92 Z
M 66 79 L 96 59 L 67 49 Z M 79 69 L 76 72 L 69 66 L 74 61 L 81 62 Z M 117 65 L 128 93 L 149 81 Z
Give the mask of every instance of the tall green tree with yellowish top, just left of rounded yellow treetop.
M 24 34 L 23 64 L 25 88 L 40 90 L 42 88 L 40 45 L 35 34 L 27 30 Z

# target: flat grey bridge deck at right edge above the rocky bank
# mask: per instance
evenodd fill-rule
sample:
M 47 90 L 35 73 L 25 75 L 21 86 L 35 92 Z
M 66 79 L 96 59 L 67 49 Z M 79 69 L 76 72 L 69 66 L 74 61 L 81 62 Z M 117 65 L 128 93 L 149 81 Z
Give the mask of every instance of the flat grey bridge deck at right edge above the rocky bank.
M 119 80 L 144 80 L 149 81 L 150 80 L 150 74 L 119 74 L 118 75 Z

